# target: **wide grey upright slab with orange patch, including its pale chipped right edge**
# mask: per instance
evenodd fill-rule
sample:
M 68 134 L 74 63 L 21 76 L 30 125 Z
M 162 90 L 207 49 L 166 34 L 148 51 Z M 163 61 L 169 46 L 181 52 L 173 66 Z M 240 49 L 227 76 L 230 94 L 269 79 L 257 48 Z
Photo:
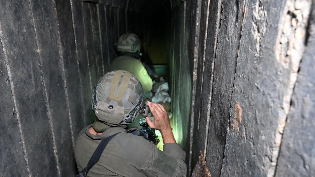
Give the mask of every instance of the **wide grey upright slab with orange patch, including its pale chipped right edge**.
M 221 176 L 274 176 L 304 51 L 309 9 L 295 11 L 303 3 L 245 2 Z

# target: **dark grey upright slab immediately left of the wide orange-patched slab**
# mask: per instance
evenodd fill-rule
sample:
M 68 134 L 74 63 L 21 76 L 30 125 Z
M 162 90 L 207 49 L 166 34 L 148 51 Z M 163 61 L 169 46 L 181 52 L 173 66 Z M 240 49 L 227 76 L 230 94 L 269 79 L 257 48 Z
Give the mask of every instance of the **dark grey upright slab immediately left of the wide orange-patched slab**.
M 211 116 L 206 161 L 211 175 L 220 176 L 245 0 L 224 1 L 216 47 Z

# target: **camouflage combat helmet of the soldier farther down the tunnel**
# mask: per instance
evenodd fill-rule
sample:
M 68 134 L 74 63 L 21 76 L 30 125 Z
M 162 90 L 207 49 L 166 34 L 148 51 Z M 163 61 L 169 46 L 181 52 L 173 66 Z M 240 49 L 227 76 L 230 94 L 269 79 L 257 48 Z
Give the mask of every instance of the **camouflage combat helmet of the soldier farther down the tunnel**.
M 140 39 L 134 33 L 125 33 L 119 37 L 117 42 L 118 52 L 140 52 Z

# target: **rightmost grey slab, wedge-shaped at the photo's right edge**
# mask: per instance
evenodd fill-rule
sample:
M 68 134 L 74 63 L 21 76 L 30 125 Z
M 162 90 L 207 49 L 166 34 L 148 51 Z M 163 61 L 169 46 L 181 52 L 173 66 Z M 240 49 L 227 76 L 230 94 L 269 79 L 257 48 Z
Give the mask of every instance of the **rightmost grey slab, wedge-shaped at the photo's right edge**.
M 315 3 L 281 141 L 275 176 L 315 176 Z

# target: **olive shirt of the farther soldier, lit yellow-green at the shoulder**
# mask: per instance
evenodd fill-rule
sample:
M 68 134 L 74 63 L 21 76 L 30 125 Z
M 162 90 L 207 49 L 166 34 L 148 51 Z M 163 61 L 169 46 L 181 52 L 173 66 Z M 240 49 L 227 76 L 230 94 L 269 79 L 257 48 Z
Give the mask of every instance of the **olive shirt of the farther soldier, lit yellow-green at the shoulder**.
M 135 75 L 139 79 L 143 91 L 150 91 L 152 89 L 152 79 L 148 75 L 146 68 L 142 65 L 140 60 L 131 56 L 119 56 L 112 61 L 109 66 L 110 71 L 125 70 Z

